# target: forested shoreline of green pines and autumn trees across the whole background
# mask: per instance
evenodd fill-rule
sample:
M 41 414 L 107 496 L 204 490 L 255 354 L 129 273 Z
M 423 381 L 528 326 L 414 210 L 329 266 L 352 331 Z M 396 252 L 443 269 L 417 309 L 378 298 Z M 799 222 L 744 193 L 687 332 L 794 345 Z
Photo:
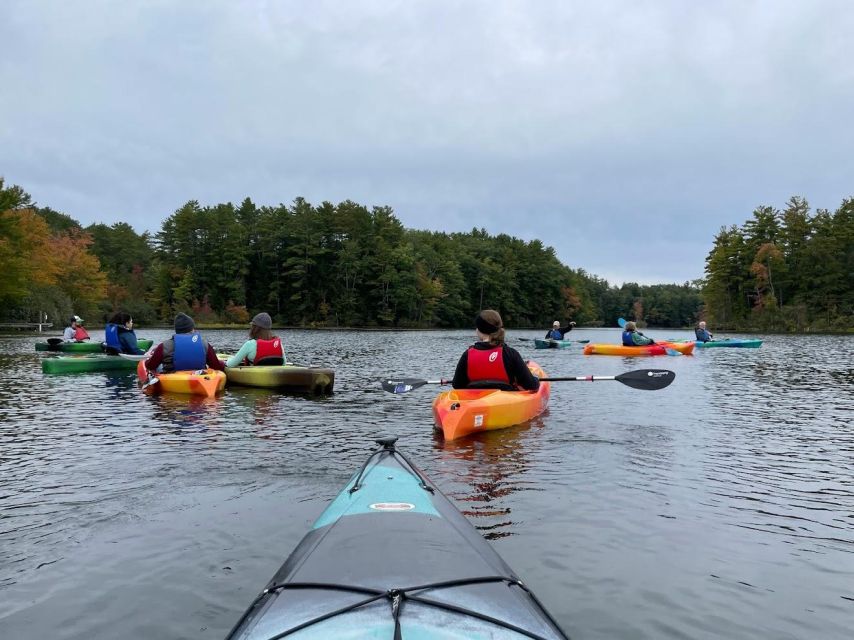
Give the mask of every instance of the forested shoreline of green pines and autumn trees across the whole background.
M 743 229 L 722 229 L 705 282 L 616 287 L 562 264 L 539 240 L 406 229 L 390 207 L 190 201 L 156 233 L 138 234 L 124 222 L 83 228 L 0 178 L 2 319 L 32 322 L 46 313 L 61 326 L 73 312 L 99 324 L 125 310 L 154 324 L 184 311 L 199 323 L 242 324 L 268 311 L 286 326 L 415 329 L 469 327 L 491 307 L 517 328 L 555 319 L 615 326 L 622 316 L 658 327 L 705 317 L 720 328 L 772 329 L 786 320 L 792 330 L 817 322 L 812 328 L 845 329 L 852 201 L 814 217 L 804 201 L 793 202 L 798 215 L 760 208 Z M 805 235 L 796 235 L 795 222 Z M 837 289 L 820 294 L 793 273 L 831 245 L 841 257 L 810 273 Z M 782 269 L 788 264 L 796 266 Z

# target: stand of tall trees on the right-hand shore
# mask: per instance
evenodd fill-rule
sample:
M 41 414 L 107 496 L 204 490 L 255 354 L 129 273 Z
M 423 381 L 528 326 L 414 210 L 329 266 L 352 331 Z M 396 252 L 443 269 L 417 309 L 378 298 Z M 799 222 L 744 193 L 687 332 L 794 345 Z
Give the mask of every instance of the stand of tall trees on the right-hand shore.
M 851 330 L 854 198 L 814 214 L 790 198 L 722 228 L 706 259 L 705 315 L 715 326 L 779 331 Z

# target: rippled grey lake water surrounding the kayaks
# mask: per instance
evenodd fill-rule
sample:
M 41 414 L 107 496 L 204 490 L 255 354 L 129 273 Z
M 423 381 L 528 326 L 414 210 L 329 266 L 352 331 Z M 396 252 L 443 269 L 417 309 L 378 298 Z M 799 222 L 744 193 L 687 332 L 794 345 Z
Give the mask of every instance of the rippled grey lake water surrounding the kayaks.
M 437 387 L 378 379 L 450 376 L 472 333 L 287 331 L 333 396 L 215 400 L 43 375 L 35 338 L 0 337 L 0 637 L 223 637 L 384 434 L 576 640 L 852 637 L 854 337 L 620 358 L 511 332 L 551 375 L 676 381 L 555 383 L 532 424 L 445 443 Z

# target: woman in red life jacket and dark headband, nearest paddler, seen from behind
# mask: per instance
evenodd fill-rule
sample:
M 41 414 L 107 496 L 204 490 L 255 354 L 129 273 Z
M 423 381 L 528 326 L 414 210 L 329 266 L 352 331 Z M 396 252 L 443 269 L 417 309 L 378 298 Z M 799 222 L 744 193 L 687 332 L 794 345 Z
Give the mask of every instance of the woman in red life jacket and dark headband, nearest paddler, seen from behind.
M 540 381 L 519 352 L 504 344 L 501 315 L 485 309 L 475 318 L 477 342 L 466 349 L 454 371 L 455 389 L 526 389 L 536 391 Z

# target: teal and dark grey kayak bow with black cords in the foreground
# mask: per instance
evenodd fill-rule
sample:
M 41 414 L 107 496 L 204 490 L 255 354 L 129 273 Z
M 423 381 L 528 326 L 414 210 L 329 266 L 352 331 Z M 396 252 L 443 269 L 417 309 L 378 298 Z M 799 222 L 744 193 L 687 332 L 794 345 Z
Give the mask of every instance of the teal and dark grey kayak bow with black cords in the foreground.
M 377 440 L 228 639 L 566 640 L 395 440 Z

